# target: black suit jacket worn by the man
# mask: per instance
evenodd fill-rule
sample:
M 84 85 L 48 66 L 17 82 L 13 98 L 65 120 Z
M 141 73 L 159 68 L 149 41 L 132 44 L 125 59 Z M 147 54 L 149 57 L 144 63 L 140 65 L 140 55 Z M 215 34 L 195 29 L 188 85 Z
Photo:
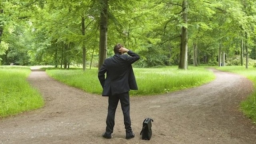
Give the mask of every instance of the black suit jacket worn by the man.
M 140 59 L 138 54 L 129 50 L 127 54 L 115 54 L 104 60 L 98 72 L 98 78 L 103 88 L 102 96 L 122 94 L 130 90 L 138 90 L 132 63 Z M 105 78 L 106 73 L 106 78 Z

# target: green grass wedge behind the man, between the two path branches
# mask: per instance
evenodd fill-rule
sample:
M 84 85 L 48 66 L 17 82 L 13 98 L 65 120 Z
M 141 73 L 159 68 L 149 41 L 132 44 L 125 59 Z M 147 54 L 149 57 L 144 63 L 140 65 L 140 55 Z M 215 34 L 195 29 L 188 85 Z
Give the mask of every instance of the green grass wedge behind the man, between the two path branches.
M 86 72 L 81 69 L 48 69 L 46 72 L 53 78 L 86 92 L 94 94 L 102 92 L 96 68 L 86 70 Z M 163 94 L 192 88 L 215 78 L 214 74 L 205 68 L 192 66 L 189 67 L 189 70 L 178 70 L 177 66 L 134 68 L 134 73 L 139 90 L 131 90 L 132 96 Z

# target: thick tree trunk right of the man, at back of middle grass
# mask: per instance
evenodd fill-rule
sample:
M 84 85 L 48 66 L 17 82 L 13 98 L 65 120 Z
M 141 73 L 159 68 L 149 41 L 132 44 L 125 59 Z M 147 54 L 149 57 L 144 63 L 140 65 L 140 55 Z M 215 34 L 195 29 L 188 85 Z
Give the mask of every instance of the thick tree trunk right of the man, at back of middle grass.
M 188 69 L 188 1 L 182 2 L 182 19 L 185 26 L 181 28 L 181 44 L 180 44 L 180 69 Z

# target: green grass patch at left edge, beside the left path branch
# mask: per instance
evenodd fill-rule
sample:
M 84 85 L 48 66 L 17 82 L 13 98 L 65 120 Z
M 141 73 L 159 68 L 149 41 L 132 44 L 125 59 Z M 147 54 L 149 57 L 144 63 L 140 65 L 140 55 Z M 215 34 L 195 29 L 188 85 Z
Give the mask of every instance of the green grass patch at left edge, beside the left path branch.
M 0 117 L 40 108 L 44 100 L 26 81 L 29 68 L 0 66 Z

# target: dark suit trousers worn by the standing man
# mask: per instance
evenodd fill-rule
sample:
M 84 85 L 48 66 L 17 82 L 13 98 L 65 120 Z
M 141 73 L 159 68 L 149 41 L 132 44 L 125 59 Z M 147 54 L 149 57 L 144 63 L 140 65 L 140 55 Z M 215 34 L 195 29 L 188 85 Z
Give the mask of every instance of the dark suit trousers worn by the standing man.
M 115 113 L 118 102 L 120 100 L 122 112 L 124 115 L 124 126 L 126 129 L 126 137 L 132 136 L 131 120 L 130 120 L 130 96 L 129 92 L 108 96 L 108 116 L 106 119 L 106 136 L 111 136 L 115 125 Z

